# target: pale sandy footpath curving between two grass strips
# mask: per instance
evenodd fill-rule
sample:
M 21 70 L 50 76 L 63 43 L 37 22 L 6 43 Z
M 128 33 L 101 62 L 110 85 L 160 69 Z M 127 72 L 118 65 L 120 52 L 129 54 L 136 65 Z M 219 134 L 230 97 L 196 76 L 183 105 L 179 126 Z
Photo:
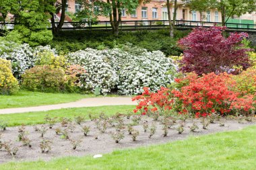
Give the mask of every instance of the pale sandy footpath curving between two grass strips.
M 0 114 L 18 114 L 24 112 L 40 112 L 48 110 L 59 110 L 62 108 L 84 108 L 102 105 L 136 105 L 136 101 L 131 101 L 131 97 L 94 97 L 80 99 L 71 103 L 61 103 L 55 105 L 40 105 L 28 108 L 8 108 L 1 109 Z

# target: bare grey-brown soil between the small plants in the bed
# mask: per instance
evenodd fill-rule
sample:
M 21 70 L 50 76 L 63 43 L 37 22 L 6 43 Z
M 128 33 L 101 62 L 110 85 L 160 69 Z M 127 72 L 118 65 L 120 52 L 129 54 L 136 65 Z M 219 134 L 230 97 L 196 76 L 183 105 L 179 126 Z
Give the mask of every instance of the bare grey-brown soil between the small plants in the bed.
M 131 120 L 127 120 L 126 118 L 124 119 L 125 124 L 131 123 Z M 40 137 L 40 133 L 34 130 L 33 126 L 26 126 L 26 131 L 28 131 L 28 137 L 32 140 L 31 148 L 28 148 L 28 146 L 23 146 L 22 142 L 18 142 L 18 127 L 7 128 L 7 130 L 1 131 L 1 133 L 3 134 L 1 141 L 3 142 L 11 140 L 13 146 L 19 146 L 19 151 L 17 155 L 15 155 L 15 161 L 36 161 L 38 159 L 49 161 L 54 157 L 104 154 L 121 148 L 135 148 L 138 146 L 148 146 L 150 144 L 166 143 L 173 140 L 183 140 L 188 136 L 198 136 L 202 134 L 211 134 L 215 132 L 229 130 L 241 130 L 245 126 L 254 124 L 250 122 L 238 124 L 236 120 L 225 120 L 224 127 L 220 127 L 218 122 L 216 122 L 216 124 L 210 124 L 207 130 L 203 130 L 199 120 L 194 120 L 195 122 L 197 122 L 199 130 L 197 130 L 198 132 L 190 132 L 188 126 L 191 126 L 191 120 L 187 120 L 185 124 L 185 131 L 183 132 L 183 134 L 178 134 L 176 128 L 179 124 L 175 124 L 171 129 L 168 130 L 168 136 L 162 137 L 162 124 L 160 124 L 159 121 L 153 121 L 152 118 L 149 118 L 147 116 L 143 117 L 141 122 L 143 120 L 148 120 L 150 126 L 153 122 L 156 124 L 156 134 L 154 134 L 154 136 L 149 139 L 149 132 L 143 132 L 142 123 L 140 123 L 138 126 L 134 126 L 136 130 L 139 130 L 139 136 L 137 137 L 137 141 L 135 142 L 132 141 L 131 135 L 129 135 L 127 130 L 125 129 L 123 130 L 123 132 L 125 132 L 125 138 L 123 138 L 120 143 L 115 143 L 110 134 L 110 132 L 116 131 L 115 128 L 108 127 L 106 133 L 99 134 L 96 125 L 94 124 L 94 122 L 91 121 L 83 123 L 83 125 L 90 126 L 90 132 L 88 133 L 88 136 L 84 136 L 84 133 L 78 125 L 76 125 L 75 130 L 70 133 L 69 136 L 71 139 L 82 139 L 81 146 L 77 146 L 76 150 L 72 149 L 69 140 L 65 140 L 61 138 L 61 136 L 55 134 L 55 128 L 61 127 L 60 124 L 56 124 L 55 126 L 53 126 L 53 129 L 49 129 L 44 135 L 44 138 L 46 140 L 53 141 L 52 150 L 49 151 L 49 153 L 41 153 L 39 144 L 42 138 Z M 94 139 L 94 136 L 96 134 L 99 134 L 97 140 Z M 10 155 L 8 155 L 6 151 L 3 150 L 3 148 L 1 148 L 0 163 L 5 163 L 8 161 L 13 161 L 13 159 Z

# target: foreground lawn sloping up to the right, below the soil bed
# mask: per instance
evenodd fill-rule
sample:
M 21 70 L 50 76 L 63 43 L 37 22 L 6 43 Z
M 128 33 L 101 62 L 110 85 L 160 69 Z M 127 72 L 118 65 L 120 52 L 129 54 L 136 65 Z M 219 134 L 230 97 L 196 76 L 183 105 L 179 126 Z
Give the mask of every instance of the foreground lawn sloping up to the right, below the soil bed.
M 0 169 L 256 169 L 256 126 L 155 146 L 114 151 L 100 159 L 63 157 L 5 163 Z

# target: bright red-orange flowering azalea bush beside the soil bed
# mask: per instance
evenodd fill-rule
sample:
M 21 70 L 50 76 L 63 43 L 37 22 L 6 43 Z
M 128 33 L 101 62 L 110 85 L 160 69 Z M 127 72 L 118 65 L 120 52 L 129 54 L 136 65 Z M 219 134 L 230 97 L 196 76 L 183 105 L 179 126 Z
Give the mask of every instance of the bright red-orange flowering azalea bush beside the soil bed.
M 179 114 L 190 113 L 199 117 L 236 112 L 249 114 L 253 109 L 253 95 L 240 97 L 240 93 L 232 91 L 232 87 L 236 85 L 232 75 L 210 73 L 199 77 L 193 73 L 175 81 L 178 87 L 179 84 L 184 86 L 172 90 L 161 88 L 157 93 L 144 88 L 144 93 L 133 97 L 133 100 L 139 101 L 134 112 L 139 110 L 146 114 L 151 107 L 152 112 L 174 110 Z

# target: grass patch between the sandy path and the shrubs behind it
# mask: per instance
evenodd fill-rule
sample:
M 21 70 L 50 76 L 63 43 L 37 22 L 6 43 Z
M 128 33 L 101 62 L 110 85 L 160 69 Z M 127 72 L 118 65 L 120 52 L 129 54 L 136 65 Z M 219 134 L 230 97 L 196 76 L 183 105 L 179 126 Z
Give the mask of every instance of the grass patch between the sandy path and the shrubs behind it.
M 94 96 L 95 95 L 82 95 L 77 93 L 40 93 L 33 91 L 18 91 L 18 93 L 13 95 L 0 95 L 0 109 L 67 103 Z

